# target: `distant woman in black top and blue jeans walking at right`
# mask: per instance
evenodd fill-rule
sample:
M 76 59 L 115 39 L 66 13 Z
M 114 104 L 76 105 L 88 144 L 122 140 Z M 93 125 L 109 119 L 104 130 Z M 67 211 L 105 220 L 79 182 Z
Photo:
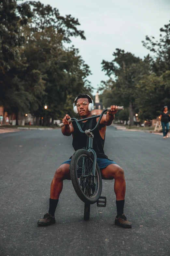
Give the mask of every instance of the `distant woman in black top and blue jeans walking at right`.
M 168 111 L 168 107 L 164 106 L 163 111 L 160 114 L 160 121 L 162 124 L 162 131 L 163 131 L 163 139 L 168 138 L 168 131 L 169 131 L 169 117 L 170 112 Z M 166 127 L 166 131 L 165 131 Z

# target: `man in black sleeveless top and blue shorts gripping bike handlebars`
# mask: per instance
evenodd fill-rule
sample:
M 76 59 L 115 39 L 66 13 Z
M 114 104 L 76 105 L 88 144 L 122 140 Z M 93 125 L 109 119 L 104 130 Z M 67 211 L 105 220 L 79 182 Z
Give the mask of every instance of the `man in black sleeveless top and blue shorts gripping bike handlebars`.
M 87 118 L 92 116 L 93 110 L 93 101 L 92 98 L 87 94 L 79 94 L 78 97 L 75 99 L 74 102 L 74 111 L 79 114 L 80 118 Z M 97 163 L 99 165 L 101 175 L 103 179 L 115 179 L 114 183 L 114 191 L 116 194 L 116 207 L 117 207 L 117 216 L 115 217 L 115 224 L 123 227 L 123 228 L 131 228 L 131 222 L 127 221 L 126 216 L 123 213 L 124 208 L 124 197 L 125 197 L 125 190 L 126 190 L 126 183 L 124 178 L 123 169 L 116 164 L 114 161 L 109 160 L 107 156 L 104 154 L 104 142 L 105 142 L 105 132 L 106 126 L 112 124 L 114 120 L 114 115 L 117 113 L 117 106 L 111 106 L 111 111 L 107 111 L 106 115 L 103 115 L 98 128 L 96 128 L 96 134 L 94 135 L 93 139 L 93 149 L 97 155 Z M 73 147 L 75 150 L 81 149 L 82 147 L 86 147 L 87 143 L 87 136 L 86 141 L 82 139 L 82 137 L 78 137 L 76 125 L 73 123 L 68 123 L 68 119 L 70 116 L 68 114 L 65 115 L 63 118 L 63 124 L 65 125 L 62 127 L 62 133 L 65 136 L 73 136 Z M 92 129 L 95 127 L 98 118 L 92 119 Z M 84 130 L 88 129 L 90 120 L 80 122 L 82 124 L 81 127 Z M 55 210 L 58 204 L 60 193 L 63 189 L 63 180 L 64 179 L 71 179 L 70 178 L 70 159 L 65 161 L 55 172 L 54 178 L 51 182 L 51 189 L 50 189 L 50 207 L 48 213 L 44 215 L 42 219 L 38 220 L 38 225 L 47 226 L 50 224 L 55 223 Z

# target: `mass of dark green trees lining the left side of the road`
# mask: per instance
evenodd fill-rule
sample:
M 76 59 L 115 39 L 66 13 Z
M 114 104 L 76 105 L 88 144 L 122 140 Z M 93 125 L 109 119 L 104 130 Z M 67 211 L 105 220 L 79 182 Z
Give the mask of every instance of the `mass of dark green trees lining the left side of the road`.
M 61 118 L 67 100 L 92 91 L 89 66 L 64 45 L 73 36 L 85 40 L 78 19 L 35 1 L 2 1 L 0 12 L 0 104 L 39 117 L 46 103 L 47 118 Z

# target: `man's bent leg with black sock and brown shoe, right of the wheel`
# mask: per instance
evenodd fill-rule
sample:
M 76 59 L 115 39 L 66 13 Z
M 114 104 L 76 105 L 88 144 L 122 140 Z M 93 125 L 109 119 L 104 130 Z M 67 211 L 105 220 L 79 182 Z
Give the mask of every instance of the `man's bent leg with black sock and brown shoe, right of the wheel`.
M 127 221 L 124 210 L 124 198 L 126 192 L 126 182 L 124 178 L 124 171 L 118 164 L 109 164 L 101 171 L 102 176 L 105 179 L 115 179 L 114 191 L 116 194 L 116 207 L 117 216 L 115 218 L 115 224 L 124 228 L 131 228 L 131 222 Z

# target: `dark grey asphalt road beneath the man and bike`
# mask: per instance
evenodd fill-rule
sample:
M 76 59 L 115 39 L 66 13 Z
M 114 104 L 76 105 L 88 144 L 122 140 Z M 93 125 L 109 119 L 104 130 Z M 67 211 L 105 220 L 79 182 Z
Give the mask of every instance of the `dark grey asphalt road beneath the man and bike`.
M 89 221 L 71 181 L 64 181 L 56 224 L 38 227 L 49 209 L 56 168 L 73 154 L 61 130 L 0 134 L 0 255 L 169 256 L 170 138 L 106 130 L 105 153 L 125 172 L 124 213 L 132 229 L 114 225 L 113 180 L 103 180 L 106 208 L 91 206 Z

